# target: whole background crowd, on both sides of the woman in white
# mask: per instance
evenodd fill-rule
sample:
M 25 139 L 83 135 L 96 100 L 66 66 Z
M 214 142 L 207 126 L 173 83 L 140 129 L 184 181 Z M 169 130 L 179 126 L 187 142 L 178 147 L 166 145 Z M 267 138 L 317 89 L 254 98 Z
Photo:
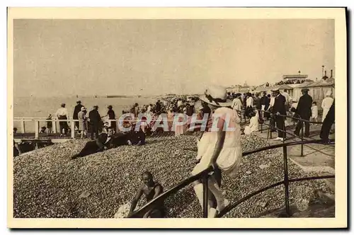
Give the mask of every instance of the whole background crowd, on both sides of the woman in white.
M 275 140 L 284 140 L 286 133 L 282 130 L 290 125 L 291 120 L 296 122 L 294 133 L 299 136 L 299 132 L 302 129 L 302 120 L 308 120 L 312 122 L 319 122 L 318 106 L 316 102 L 312 101 L 312 97 L 308 94 L 308 89 L 302 89 L 302 96 L 298 102 L 292 101 L 292 98 L 286 90 L 280 92 L 278 88 L 272 90 L 271 94 L 265 92 L 262 93 L 227 93 L 227 98 L 231 102 L 230 108 L 236 111 L 238 117 L 241 120 L 249 120 L 249 125 L 241 128 L 242 134 L 252 134 L 258 131 L 258 126 L 265 120 L 270 121 L 270 131 L 278 130 L 278 137 Z M 333 98 L 331 98 L 331 91 L 326 93 L 326 98 L 321 103 L 323 109 L 322 122 L 324 122 L 327 113 L 333 105 Z M 92 110 L 87 112 L 81 101 L 76 102 L 74 113 L 72 118 L 78 120 L 75 122 L 75 130 L 70 130 L 68 122 L 64 120 L 69 119 L 68 110 L 65 107 L 65 103 L 62 103 L 61 107 L 55 113 L 55 117 L 59 122 L 60 135 L 65 136 L 68 132 L 77 131 L 81 138 L 91 137 L 91 140 L 98 139 L 101 133 L 107 133 L 108 127 L 112 127 L 113 133 L 124 132 L 119 129 L 117 125 L 118 116 L 115 115 L 112 105 L 108 105 L 108 111 L 105 115 L 101 116 L 98 112 L 98 105 L 94 105 Z M 169 131 L 174 132 L 176 136 L 180 136 L 189 130 L 191 124 L 191 116 L 195 113 L 198 114 L 198 119 L 202 119 L 205 113 L 210 114 L 211 110 L 207 108 L 205 102 L 201 102 L 198 97 L 172 97 L 164 99 L 164 101 L 158 100 L 156 103 L 150 103 L 148 105 L 133 104 L 130 108 L 122 110 L 122 115 L 132 114 L 133 120 L 127 119 L 123 122 L 123 127 L 136 125 L 139 123 L 139 130 L 137 132 L 143 132 L 146 136 L 158 134 L 163 132 L 161 128 L 153 130 L 155 122 L 159 119 L 160 115 L 166 115 L 169 125 Z M 189 119 L 183 123 L 183 125 L 173 125 L 176 116 L 183 114 Z M 137 120 L 137 117 L 142 115 L 142 120 Z M 152 117 L 151 120 L 147 120 L 145 115 Z M 288 117 L 284 117 L 287 115 Z M 296 118 L 291 118 L 296 117 Z M 47 118 L 47 132 L 52 132 L 52 116 Z M 182 122 L 183 117 L 178 117 L 178 121 Z M 309 137 L 309 122 L 304 123 L 304 137 Z M 44 132 L 46 127 L 42 127 Z M 196 128 L 198 130 L 198 127 Z

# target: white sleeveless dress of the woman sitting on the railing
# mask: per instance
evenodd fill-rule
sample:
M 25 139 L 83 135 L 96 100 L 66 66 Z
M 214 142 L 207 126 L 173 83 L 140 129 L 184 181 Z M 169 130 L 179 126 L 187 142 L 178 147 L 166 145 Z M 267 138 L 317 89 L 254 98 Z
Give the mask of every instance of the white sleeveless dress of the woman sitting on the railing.
M 241 129 L 239 125 L 239 115 L 236 110 L 230 108 L 217 108 L 215 114 L 222 115 L 219 117 L 223 120 L 229 120 L 229 129 L 234 127 L 234 130 L 226 130 L 224 139 L 224 146 L 217 158 L 217 166 L 229 176 L 234 176 L 237 173 L 239 165 L 241 164 L 242 149 L 241 149 Z M 229 115 L 227 117 L 226 115 Z M 215 120 L 217 121 L 217 120 Z M 226 123 L 226 122 L 225 122 Z M 214 153 L 215 144 L 217 142 L 217 132 L 204 132 L 202 139 L 198 142 L 198 156 L 197 159 L 201 159 L 199 164 L 195 165 L 192 174 L 196 175 L 201 171 L 204 171 L 210 164 L 212 154 Z

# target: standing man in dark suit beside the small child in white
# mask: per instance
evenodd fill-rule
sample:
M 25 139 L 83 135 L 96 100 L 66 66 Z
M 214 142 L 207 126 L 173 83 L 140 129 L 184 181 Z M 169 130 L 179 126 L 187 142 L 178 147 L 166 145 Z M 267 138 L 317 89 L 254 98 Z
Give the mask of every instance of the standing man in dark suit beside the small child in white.
M 308 88 L 303 88 L 301 91 L 302 96 L 299 98 L 299 103 L 297 103 L 295 113 L 299 115 L 301 119 L 309 120 L 309 118 L 311 117 L 312 97 L 308 94 Z M 294 134 L 299 135 L 302 125 L 302 121 L 297 122 Z M 309 122 L 305 122 L 304 137 L 309 137 Z

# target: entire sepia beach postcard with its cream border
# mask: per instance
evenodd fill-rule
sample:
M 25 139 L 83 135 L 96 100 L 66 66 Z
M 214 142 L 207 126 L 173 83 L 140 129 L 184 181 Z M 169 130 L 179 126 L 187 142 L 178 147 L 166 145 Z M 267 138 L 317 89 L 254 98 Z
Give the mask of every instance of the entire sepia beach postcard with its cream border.
M 8 227 L 346 227 L 346 47 L 346 8 L 8 8 Z

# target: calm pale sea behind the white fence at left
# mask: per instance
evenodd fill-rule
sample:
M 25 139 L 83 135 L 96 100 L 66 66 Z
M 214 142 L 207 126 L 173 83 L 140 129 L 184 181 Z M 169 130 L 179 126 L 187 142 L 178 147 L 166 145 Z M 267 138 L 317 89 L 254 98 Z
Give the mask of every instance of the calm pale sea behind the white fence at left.
M 122 114 L 122 110 L 132 107 L 135 103 L 139 105 L 147 105 L 149 103 L 156 103 L 159 97 L 120 97 L 120 98 L 108 98 L 108 97 L 14 97 L 13 98 L 13 117 L 40 117 L 47 118 L 50 114 L 52 117 L 62 103 L 66 104 L 66 108 L 69 112 L 69 117 L 72 118 L 76 101 L 81 101 L 88 112 L 92 110 L 93 105 L 98 105 L 98 112 L 101 116 L 107 114 L 108 105 L 113 106 L 115 115 L 118 117 Z M 46 126 L 46 122 L 40 122 L 40 127 Z M 21 122 L 13 122 L 13 127 L 21 132 Z M 34 122 L 25 122 L 25 132 L 34 132 Z

